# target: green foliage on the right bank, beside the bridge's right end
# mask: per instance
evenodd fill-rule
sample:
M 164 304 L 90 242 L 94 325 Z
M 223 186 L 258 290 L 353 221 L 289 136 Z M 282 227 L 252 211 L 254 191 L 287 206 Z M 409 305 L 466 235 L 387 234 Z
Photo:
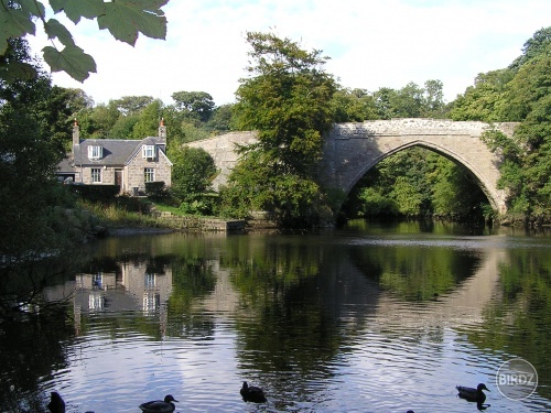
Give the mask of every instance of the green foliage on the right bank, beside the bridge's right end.
M 503 156 L 499 186 L 508 192 L 515 217 L 551 217 L 551 43 L 549 29 L 525 44 L 512 65 L 515 76 L 505 86 L 500 116 L 520 124 L 512 139 L 495 131 L 483 139 Z

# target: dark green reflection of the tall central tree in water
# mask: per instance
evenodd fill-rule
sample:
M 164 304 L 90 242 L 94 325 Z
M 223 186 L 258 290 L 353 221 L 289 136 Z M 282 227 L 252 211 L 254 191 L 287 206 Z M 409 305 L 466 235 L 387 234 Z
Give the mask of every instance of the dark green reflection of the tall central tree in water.
M 307 382 L 334 374 L 334 358 L 365 323 L 366 314 L 350 314 L 349 304 L 377 300 L 368 281 L 348 273 L 346 260 L 335 246 L 305 242 L 271 246 L 224 262 L 239 292 L 241 370 L 262 371 L 264 380 L 273 371 L 291 381 L 300 378 L 293 398 L 315 399 Z M 270 384 L 281 393 L 290 391 L 288 385 L 285 380 Z

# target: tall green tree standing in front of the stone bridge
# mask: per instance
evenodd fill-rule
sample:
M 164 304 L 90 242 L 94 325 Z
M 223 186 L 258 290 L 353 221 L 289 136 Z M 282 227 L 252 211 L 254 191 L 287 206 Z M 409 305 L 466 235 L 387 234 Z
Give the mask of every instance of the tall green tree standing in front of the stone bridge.
M 258 132 L 258 143 L 241 148 L 246 167 L 231 172 L 225 202 L 270 210 L 284 226 L 314 225 L 324 203 L 313 176 L 322 134 L 333 124 L 336 83 L 323 70 L 321 51 L 258 32 L 247 41 L 252 77 L 240 80 L 234 116 L 237 129 Z

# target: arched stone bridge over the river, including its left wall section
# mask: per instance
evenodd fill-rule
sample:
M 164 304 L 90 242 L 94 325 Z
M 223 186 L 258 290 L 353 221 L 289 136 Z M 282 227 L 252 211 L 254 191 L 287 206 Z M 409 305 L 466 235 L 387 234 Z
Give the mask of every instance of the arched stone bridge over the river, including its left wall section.
M 512 134 L 516 123 L 495 123 L 494 128 Z M 437 119 L 392 119 L 356 123 L 337 123 L 325 137 L 320 180 L 326 187 L 346 194 L 358 180 L 385 157 L 412 146 L 434 151 L 465 166 L 476 178 L 493 208 L 505 214 L 506 193 L 497 188 L 500 157 L 480 141 L 490 124 L 476 121 Z M 188 143 L 203 148 L 214 159 L 220 174 L 214 186 L 226 182 L 237 162 L 235 144 L 256 141 L 255 132 L 231 132 Z

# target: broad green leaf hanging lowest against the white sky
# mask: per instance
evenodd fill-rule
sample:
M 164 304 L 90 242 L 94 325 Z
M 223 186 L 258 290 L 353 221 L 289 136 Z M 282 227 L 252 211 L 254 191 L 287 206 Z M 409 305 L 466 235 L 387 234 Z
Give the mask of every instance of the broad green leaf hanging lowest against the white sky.
M 65 72 L 80 83 L 86 80 L 90 73 L 96 73 L 96 62 L 78 46 L 66 46 L 61 52 L 46 46 L 42 52 L 52 72 Z

